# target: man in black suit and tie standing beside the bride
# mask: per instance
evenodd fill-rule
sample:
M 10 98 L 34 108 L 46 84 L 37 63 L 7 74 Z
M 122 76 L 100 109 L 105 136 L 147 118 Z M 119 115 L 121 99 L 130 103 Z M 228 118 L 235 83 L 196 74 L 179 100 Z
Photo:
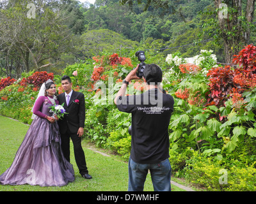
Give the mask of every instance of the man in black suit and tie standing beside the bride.
M 64 93 L 58 95 L 58 101 L 63 104 L 66 114 L 63 119 L 58 120 L 61 134 L 61 148 L 67 161 L 70 161 L 70 138 L 74 145 L 74 154 L 79 173 L 84 179 L 92 179 L 88 174 L 84 151 L 81 145 L 81 136 L 84 133 L 84 94 L 72 90 L 70 77 L 61 78 L 61 86 Z

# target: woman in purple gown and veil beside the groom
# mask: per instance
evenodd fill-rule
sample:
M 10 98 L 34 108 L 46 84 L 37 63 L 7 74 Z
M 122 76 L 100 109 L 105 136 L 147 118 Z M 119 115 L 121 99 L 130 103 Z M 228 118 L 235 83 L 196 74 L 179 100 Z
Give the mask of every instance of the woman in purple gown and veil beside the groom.
M 55 94 L 52 80 L 42 85 L 33 107 L 34 120 L 12 165 L 0 175 L 0 184 L 65 186 L 74 181 L 73 166 L 61 150 L 57 118 L 51 117 L 49 108 L 59 103 Z

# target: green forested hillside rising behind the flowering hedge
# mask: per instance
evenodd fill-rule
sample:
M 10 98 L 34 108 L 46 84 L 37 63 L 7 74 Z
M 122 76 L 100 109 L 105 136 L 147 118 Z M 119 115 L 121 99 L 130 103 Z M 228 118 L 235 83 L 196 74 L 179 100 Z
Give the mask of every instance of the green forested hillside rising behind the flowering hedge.
M 170 1 L 167 11 L 156 6 L 145 11 L 148 1 L 141 2 L 134 0 L 131 11 L 119 0 L 42 0 L 33 3 L 35 18 L 28 18 L 30 1 L 1 1 L 0 76 L 19 78 L 33 69 L 60 74 L 67 64 L 102 52 L 128 57 L 138 49 L 165 57 L 213 50 L 218 62 L 225 62 L 223 43 L 214 41 L 212 0 Z M 255 36 L 251 33 L 250 42 Z

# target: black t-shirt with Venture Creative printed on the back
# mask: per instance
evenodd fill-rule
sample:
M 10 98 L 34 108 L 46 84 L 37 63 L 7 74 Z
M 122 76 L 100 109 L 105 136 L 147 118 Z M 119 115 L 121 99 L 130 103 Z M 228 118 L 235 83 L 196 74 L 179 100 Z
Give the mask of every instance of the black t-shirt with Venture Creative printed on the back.
M 132 113 L 131 159 L 136 163 L 159 163 L 170 157 L 168 126 L 173 104 L 173 97 L 158 89 L 118 98 L 118 110 Z

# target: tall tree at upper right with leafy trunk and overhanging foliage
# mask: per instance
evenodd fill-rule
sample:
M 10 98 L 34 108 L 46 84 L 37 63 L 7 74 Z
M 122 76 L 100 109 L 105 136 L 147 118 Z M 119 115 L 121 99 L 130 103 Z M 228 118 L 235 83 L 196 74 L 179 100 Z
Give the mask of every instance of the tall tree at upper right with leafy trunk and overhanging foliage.
M 179 13 L 172 1 L 144 0 L 145 10 L 150 6 L 163 8 L 165 13 L 175 10 Z M 253 14 L 256 0 L 214 0 L 216 7 L 216 21 L 213 20 L 212 31 L 218 42 L 223 42 L 225 61 L 232 62 L 234 54 L 237 54 L 250 40 Z M 143 0 L 120 0 L 120 4 L 129 4 L 132 9 L 134 2 L 141 4 Z M 176 1 L 173 1 L 176 2 Z M 173 12 L 175 13 L 175 12 Z M 182 16 L 182 15 L 181 15 Z

